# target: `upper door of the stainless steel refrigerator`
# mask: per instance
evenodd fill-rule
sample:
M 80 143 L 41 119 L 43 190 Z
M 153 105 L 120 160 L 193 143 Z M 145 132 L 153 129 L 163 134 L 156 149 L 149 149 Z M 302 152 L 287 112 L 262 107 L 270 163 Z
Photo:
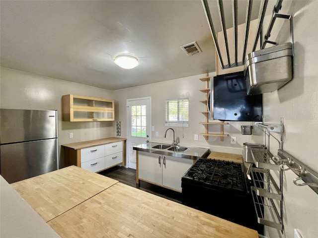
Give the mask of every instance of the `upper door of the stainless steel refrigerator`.
M 57 138 L 57 111 L 1 109 L 1 144 Z

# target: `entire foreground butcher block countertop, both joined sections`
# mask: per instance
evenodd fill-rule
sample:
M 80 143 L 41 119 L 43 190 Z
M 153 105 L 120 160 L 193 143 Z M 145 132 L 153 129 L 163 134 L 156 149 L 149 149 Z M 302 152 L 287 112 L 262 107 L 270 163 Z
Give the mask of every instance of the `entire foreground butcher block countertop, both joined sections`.
M 12 186 L 62 238 L 258 237 L 249 228 L 76 166 Z

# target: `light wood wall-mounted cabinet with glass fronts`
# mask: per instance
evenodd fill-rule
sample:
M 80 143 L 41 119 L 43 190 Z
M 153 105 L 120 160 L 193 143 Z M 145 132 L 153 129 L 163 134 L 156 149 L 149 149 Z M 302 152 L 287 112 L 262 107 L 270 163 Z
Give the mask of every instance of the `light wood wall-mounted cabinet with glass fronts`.
M 114 100 L 73 94 L 64 95 L 64 121 L 110 121 L 115 119 Z

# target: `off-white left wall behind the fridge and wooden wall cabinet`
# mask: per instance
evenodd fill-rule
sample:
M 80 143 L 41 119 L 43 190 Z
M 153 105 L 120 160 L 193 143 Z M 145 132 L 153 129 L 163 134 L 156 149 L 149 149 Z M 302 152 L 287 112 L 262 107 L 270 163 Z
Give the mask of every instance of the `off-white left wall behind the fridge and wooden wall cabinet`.
M 62 121 L 63 95 L 113 99 L 112 91 L 5 67 L 0 69 L 0 108 L 58 110 L 60 167 L 64 167 L 64 153 L 61 153 L 60 145 L 115 135 L 113 121 Z M 74 133 L 72 139 L 69 139 L 70 132 Z

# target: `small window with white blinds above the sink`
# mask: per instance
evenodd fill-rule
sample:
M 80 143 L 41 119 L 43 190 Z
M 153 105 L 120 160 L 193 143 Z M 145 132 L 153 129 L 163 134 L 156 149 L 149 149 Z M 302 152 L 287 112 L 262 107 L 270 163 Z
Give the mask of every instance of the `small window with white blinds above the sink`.
M 189 126 L 189 99 L 165 100 L 165 125 Z

